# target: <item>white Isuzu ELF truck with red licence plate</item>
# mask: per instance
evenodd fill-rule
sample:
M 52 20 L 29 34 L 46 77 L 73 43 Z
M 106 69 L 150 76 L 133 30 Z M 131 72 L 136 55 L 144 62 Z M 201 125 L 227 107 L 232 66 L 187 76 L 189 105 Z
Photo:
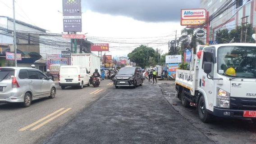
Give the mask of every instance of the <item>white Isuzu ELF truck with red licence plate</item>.
M 182 105 L 197 106 L 203 122 L 212 116 L 256 122 L 256 44 L 210 45 L 201 52 L 190 70 L 176 72 Z

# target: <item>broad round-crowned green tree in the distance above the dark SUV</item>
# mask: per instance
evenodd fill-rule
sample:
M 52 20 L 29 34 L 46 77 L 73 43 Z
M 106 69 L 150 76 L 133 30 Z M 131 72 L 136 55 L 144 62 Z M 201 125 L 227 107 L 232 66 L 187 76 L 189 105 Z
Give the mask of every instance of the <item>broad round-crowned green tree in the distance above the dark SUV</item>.
M 141 45 L 128 54 L 130 61 L 136 63 L 137 66 L 142 68 L 148 66 L 148 60 L 150 57 L 155 59 L 157 54 L 155 49 L 147 47 L 146 45 Z

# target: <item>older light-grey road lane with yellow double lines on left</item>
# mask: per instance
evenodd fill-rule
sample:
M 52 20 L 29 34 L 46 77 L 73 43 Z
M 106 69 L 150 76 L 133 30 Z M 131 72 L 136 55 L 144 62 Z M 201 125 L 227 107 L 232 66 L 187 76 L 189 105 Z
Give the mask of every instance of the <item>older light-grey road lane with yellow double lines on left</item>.
M 72 87 L 61 90 L 58 86 L 55 99 L 32 101 L 28 108 L 17 103 L 0 103 L 0 144 L 42 143 L 112 87 L 110 80 L 82 90 Z

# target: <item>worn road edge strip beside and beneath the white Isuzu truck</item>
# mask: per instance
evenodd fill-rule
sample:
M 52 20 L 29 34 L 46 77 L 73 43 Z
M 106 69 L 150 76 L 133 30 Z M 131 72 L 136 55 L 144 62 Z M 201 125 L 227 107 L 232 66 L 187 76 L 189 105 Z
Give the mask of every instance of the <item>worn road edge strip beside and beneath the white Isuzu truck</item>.
M 175 98 L 174 81 L 163 82 L 160 85 L 164 97 L 173 105 L 174 109 L 197 127 L 209 139 L 219 144 L 256 144 L 256 124 L 250 119 L 224 119 L 215 117 L 211 123 L 203 123 L 199 119 L 197 109 L 184 108 L 181 101 Z M 177 104 L 177 105 L 176 105 Z

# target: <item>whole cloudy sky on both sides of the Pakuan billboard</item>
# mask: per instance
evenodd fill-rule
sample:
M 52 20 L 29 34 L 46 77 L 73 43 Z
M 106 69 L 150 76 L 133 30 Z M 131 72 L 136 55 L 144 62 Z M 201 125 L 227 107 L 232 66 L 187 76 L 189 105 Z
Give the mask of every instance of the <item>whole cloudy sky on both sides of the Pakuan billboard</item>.
M 62 0 L 15 0 L 16 18 L 61 33 Z M 107 54 L 127 55 L 138 45 L 168 51 L 180 9 L 199 8 L 200 0 L 82 0 L 82 33 L 95 43 L 110 43 Z M 58 12 L 60 11 L 60 12 Z M 0 15 L 13 17 L 12 0 L 0 0 Z

